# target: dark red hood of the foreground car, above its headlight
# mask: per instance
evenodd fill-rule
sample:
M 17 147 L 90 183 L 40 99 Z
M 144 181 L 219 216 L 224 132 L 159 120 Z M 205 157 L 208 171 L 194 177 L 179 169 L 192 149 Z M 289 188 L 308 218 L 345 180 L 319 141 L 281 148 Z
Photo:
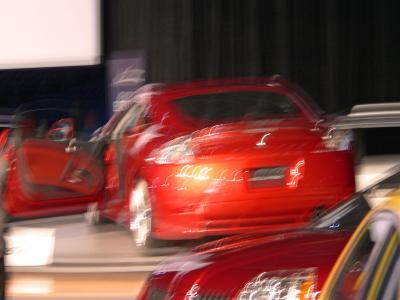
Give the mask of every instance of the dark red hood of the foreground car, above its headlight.
M 177 299 L 194 285 L 202 295 L 233 297 L 262 272 L 315 268 L 320 289 L 349 237 L 348 232 L 301 230 L 223 250 L 183 253 L 154 271 L 150 285 L 168 287 Z

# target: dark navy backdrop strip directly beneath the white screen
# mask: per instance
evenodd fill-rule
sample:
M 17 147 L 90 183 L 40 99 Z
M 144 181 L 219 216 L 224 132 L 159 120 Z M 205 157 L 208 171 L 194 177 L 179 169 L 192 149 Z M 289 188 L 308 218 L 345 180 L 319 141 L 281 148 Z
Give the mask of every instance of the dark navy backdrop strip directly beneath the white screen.
M 78 123 L 93 113 L 97 125 L 103 124 L 104 73 L 103 65 L 0 70 L 0 114 L 12 114 L 23 103 L 51 99 L 74 110 Z

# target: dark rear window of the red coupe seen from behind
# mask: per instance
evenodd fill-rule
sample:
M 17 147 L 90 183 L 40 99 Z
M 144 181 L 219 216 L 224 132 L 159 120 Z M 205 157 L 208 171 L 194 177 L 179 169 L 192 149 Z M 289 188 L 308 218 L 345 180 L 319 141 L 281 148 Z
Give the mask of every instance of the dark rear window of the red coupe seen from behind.
M 201 94 L 174 101 L 185 115 L 204 121 L 260 120 L 295 117 L 297 107 L 287 96 L 266 91 Z

